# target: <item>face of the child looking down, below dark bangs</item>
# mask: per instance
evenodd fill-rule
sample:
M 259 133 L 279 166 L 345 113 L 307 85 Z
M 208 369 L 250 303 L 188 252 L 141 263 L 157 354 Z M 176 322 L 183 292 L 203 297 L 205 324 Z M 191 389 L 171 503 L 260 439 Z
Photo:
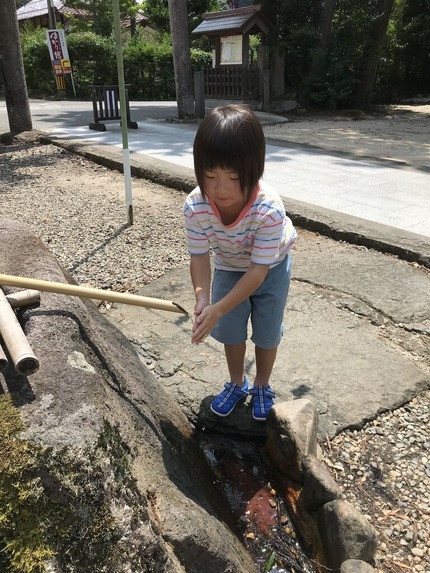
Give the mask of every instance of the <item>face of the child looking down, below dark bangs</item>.
M 204 189 L 220 209 L 243 207 L 244 198 L 239 175 L 231 169 L 214 167 L 204 172 Z

